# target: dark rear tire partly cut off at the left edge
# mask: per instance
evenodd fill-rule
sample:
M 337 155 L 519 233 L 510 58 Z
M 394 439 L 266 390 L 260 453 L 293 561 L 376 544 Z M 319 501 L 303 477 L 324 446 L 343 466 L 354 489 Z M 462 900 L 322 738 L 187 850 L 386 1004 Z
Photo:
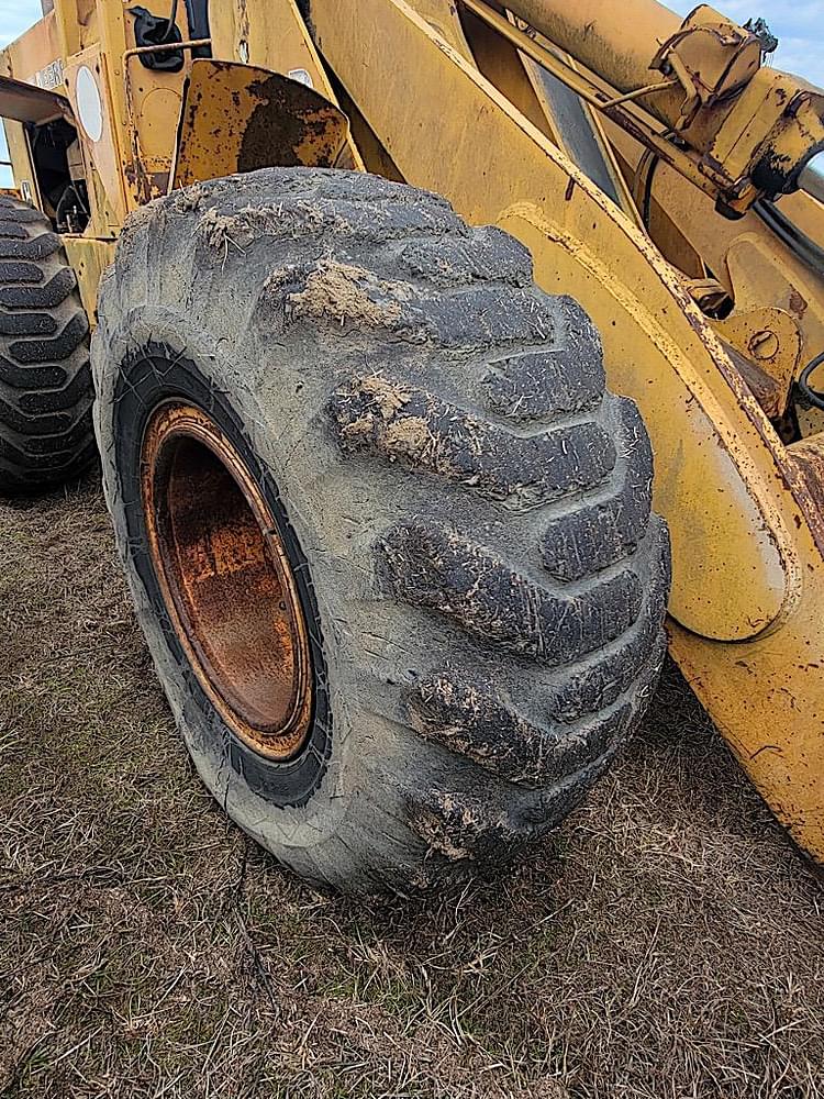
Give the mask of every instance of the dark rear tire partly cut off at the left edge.
M 96 456 L 89 322 L 60 238 L 0 197 L 0 496 L 81 474 Z

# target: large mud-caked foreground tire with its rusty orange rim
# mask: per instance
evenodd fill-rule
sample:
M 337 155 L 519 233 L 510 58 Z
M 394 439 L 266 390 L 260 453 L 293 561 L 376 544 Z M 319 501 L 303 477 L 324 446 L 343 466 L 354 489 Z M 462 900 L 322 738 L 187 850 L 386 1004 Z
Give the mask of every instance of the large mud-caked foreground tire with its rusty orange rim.
M 370 176 L 214 180 L 132 217 L 92 363 L 137 613 L 246 832 L 404 890 L 569 813 L 655 688 L 669 548 L 520 244 Z

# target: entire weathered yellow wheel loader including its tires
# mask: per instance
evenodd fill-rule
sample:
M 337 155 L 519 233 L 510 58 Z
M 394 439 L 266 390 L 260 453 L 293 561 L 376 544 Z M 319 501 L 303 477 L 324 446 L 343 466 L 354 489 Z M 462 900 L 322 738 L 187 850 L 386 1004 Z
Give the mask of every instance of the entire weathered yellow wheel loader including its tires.
M 706 5 L 144 4 L 0 55 L 0 489 L 99 453 L 227 813 L 502 862 L 668 640 L 824 861 L 824 92 Z

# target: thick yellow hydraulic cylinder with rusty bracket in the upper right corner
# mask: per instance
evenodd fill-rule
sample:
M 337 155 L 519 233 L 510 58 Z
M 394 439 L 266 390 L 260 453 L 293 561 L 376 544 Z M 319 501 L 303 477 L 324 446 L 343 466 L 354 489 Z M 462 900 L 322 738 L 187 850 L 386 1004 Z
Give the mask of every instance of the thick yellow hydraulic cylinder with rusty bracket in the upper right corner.
M 487 0 L 464 0 L 519 49 L 568 84 L 650 153 L 711 195 L 727 217 L 759 198 L 814 186 L 812 162 L 824 148 L 824 95 L 786 74 L 761 68 L 761 41 L 708 5 L 679 23 L 661 4 L 619 9 L 593 2 L 575 19 L 567 4 L 515 0 L 510 11 L 592 70 L 602 87 L 542 47 Z M 581 33 L 581 26 L 587 27 Z M 642 26 L 660 45 L 627 35 Z M 614 43 L 622 42 L 616 51 Z M 635 49 L 633 51 L 633 47 Z M 655 80 L 657 74 L 658 79 Z M 610 85 L 611 91 L 603 90 Z M 653 115 L 633 113 L 637 103 Z M 753 120 L 758 124 L 754 125 Z M 657 120 L 660 125 L 655 126 Z

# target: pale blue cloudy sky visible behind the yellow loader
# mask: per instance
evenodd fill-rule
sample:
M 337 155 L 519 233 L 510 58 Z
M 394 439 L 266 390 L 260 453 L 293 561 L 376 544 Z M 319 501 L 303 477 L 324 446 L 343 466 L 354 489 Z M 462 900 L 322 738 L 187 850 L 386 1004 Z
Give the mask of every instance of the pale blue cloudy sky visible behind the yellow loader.
M 604 0 L 605 3 L 619 0 Z M 155 9 L 158 4 L 149 4 Z M 159 5 L 165 11 L 167 3 Z M 670 7 L 686 15 L 695 4 L 692 0 L 670 0 Z M 713 7 L 744 23 L 761 16 L 779 40 L 771 64 L 788 73 L 797 73 L 824 87 L 824 0 L 714 0 Z M 0 0 L 0 47 L 16 38 L 41 14 L 40 0 Z M 5 157 L 5 143 L 0 133 L 0 159 Z M 0 169 L 0 186 L 9 186 L 7 169 Z

